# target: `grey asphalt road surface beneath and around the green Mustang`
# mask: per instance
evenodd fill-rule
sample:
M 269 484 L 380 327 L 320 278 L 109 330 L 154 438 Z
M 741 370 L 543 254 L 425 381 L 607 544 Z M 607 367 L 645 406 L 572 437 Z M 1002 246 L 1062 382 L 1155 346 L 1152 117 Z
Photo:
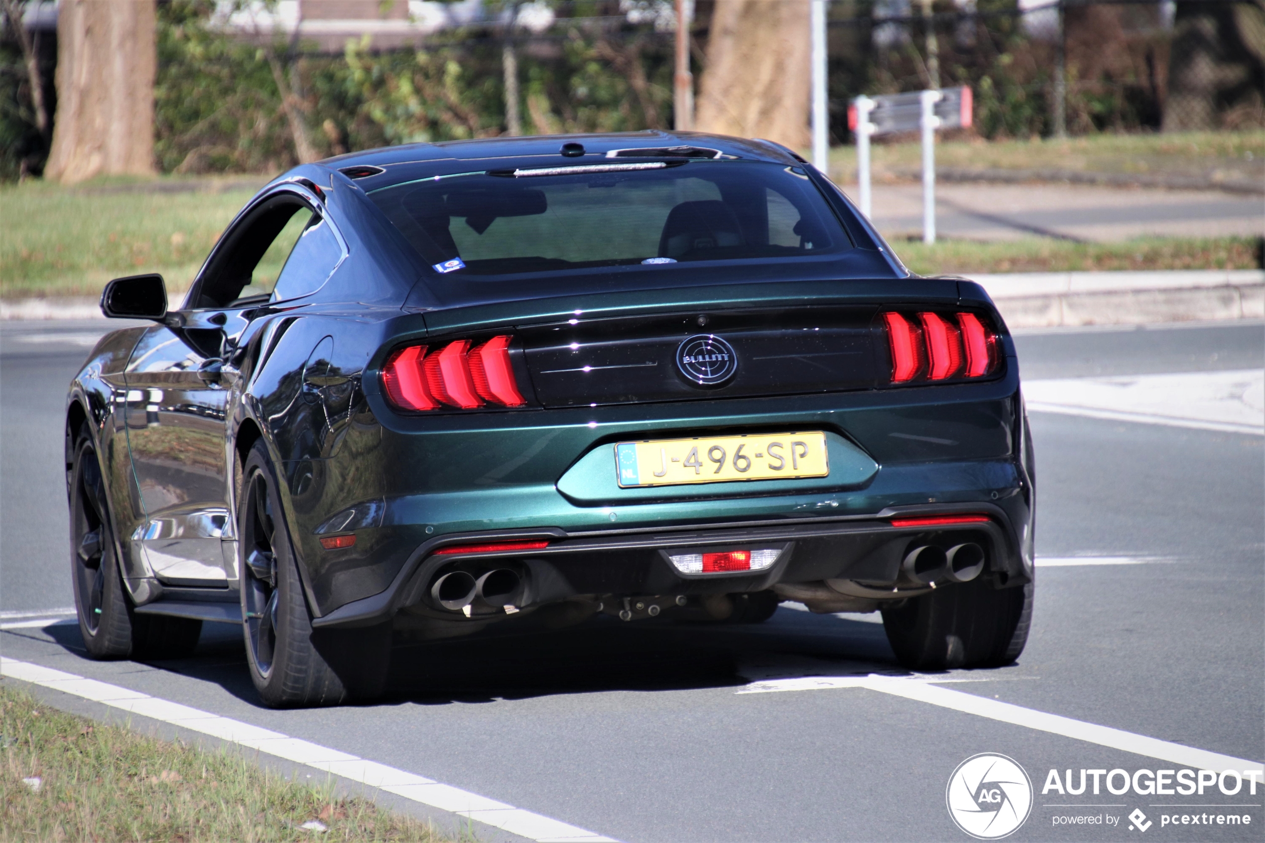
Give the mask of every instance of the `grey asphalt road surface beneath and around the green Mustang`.
M 0 326 L 8 618 L 72 604 L 61 412 L 85 344 L 102 327 Z M 1018 345 L 1032 379 L 1265 367 L 1259 322 L 1046 331 Z M 1037 571 L 1028 647 L 1012 667 L 951 671 L 934 677 L 936 686 L 1265 760 L 1265 439 L 1046 413 L 1034 413 L 1032 430 L 1037 555 L 1051 564 Z M 969 839 L 950 822 L 945 786 L 979 752 L 1015 758 L 1035 785 L 1032 813 L 1012 839 L 1131 839 L 1135 808 L 1155 823 L 1147 839 L 1260 839 L 1265 823 L 1265 787 L 1250 795 L 1246 785 L 1232 796 L 1216 787 L 1202 796 L 1042 794 L 1050 770 L 1174 765 L 1022 723 L 864 688 L 741 693 L 796 688 L 750 685 L 762 680 L 899 676 L 882 627 L 867 616 L 784 605 L 754 627 L 600 619 L 515 638 L 405 645 L 387 700 L 305 712 L 256 704 L 231 627 L 207 627 L 192 658 L 139 665 L 87 661 L 73 626 L 4 626 L 5 656 L 335 747 L 621 840 Z M 1252 825 L 1174 829 L 1157 822 L 1165 810 L 1233 810 Z M 1056 816 L 1082 814 L 1118 824 L 1055 825 Z

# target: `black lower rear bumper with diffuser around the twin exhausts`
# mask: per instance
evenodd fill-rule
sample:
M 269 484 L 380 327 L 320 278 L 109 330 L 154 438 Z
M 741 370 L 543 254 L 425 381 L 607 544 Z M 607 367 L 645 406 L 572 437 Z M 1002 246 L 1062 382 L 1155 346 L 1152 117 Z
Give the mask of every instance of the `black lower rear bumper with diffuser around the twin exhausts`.
M 1017 497 L 1017 495 L 1016 495 Z M 511 566 L 528 583 L 522 608 L 576 597 L 707 595 L 759 591 L 782 583 L 849 580 L 864 588 L 917 593 L 902 575 L 901 562 L 918 545 L 951 546 L 973 541 L 985 552 L 985 575 L 998 586 L 1031 580 L 1026 546 L 1026 506 L 1020 500 L 970 504 L 888 507 L 869 514 L 751 519 L 745 522 L 676 525 L 612 530 L 507 530 L 445 533 L 423 542 L 391 585 L 314 621 L 323 627 L 382 623 L 414 607 L 433 617 L 460 621 L 430 599 L 436 578 L 450 570 L 479 571 Z M 1009 503 L 1011 506 L 1004 506 Z M 1016 504 L 1020 504 L 1016 511 Z M 893 518 L 960 513 L 987 514 L 983 523 L 894 526 Z M 1016 527 L 1015 514 L 1023 518 Z M 436 554 L 443 549 L 492 542 L 546 542 L 531 550 Z M 682 574 L 668 560 L 669 551 L 705 552 L 735 547 L 783 547 L 764 571 Z

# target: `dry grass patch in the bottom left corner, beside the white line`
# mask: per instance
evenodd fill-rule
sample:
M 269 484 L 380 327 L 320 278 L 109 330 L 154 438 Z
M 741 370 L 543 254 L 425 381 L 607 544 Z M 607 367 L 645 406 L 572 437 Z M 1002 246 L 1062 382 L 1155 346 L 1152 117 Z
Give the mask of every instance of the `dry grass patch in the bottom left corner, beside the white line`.
M 0 840 L 419 840 L 429 824 L 0 686 Z M 38 784 L 37 784 L 38 781 Z M 328 832 L 301 828 L 319 820 Z

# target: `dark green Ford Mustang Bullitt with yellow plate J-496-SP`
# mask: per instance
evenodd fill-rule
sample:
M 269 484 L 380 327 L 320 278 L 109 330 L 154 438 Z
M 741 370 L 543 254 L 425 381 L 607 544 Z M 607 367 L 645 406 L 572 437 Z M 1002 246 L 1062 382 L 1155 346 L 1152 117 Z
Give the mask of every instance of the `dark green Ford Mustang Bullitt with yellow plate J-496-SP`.
M 97 657 L 242 624 L 271 705 L 372 698 L 392 633 L 793 600 L 994 666 L 1032 607 L 1032 446 L 984 291 L 912 276 L 777 144 L 658 131 L 305 164 L 185 301 L 106 288 L 71 384 Z

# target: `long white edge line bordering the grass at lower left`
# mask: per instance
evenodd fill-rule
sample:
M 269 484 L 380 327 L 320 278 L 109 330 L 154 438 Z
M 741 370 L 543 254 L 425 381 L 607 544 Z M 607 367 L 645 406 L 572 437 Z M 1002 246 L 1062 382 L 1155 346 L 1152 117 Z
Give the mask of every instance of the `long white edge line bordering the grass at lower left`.
M 444 785 L 404 770 L 358 758 L 310 741 L 291 738 L 229 717 L 172 703 L 139 691 L 67 674 L 28 661 L 0 657 L 0 676 L 8 676 L 133 714 L 142 714 L 183 729 L 229 741 L 250 749 L 293 761 L 350 779 L 371 787 L 452 811 L 469 819 L 526 837 L 539 843 L 615 843 L 612 838 L 498 803 L 459 787 Z

